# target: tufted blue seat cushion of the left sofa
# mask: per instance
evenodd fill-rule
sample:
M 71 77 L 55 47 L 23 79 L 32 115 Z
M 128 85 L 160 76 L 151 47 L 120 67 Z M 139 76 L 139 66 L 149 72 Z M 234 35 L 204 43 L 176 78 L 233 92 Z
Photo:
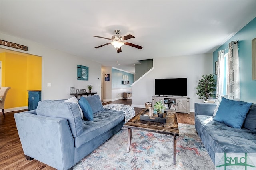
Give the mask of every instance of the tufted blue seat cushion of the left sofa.
M 108 132 L 108 130 L 114 128 L 119 123 L 123 122 L 124 124 L 124 113 L 121 111 L 102 109 L 94 113 L 93 117 L 93 121 L 83 121 L 82 134 L 74 138 L 76 148 Z

